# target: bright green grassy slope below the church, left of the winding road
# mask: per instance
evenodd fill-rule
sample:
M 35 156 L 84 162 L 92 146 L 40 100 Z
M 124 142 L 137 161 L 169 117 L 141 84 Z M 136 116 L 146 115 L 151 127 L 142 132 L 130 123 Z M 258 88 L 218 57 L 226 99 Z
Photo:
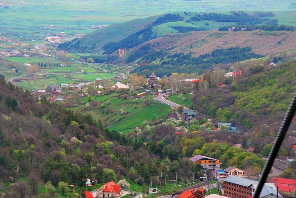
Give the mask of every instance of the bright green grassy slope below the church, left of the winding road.
M 146 104 L 145 98 L 124 98 L 120 97 L 122 93 L 111 93 L 108 95 L 84 97 L 77 107 L 72 109 L 81 110 L 84 113 L 90 113 L 93 118 L 100 119 L 105 123 L 109 130 L 117 130 L 123 134 L 132 132 L 134 127 L 142 124 L 144 120 L 153 121 L 163 116 L 167 116 L 170 107 L 164 104 L 156 103 L 152 97 L 153 94 L 148 95 L 149 103 Z M 97 101 L 98 105 L 92 106 L 92 102 Z M 76 102 L 77 103 L 77 102 Z M 85 109 L 84 107 L 90 106 Z M 125 111 L 120 114 L 120 109 Z

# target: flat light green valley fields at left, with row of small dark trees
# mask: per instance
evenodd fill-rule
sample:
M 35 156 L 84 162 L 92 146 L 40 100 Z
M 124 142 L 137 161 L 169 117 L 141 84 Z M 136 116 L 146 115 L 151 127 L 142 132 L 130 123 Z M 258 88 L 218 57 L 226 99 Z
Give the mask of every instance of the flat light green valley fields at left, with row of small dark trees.
M 32 77 L 23 76 L 19 78 L 21 82 L 16 82 L 17 85 L 24 89 L 41 88 L 48 85 L 59 85 L 61 83 L 73 83 L 73 82 L 89 82 L 94 81 L 96 78 L 102 78 L 104 80 L 113 79 L 116 73 L 98 72 L 97 69 L 87 65 L 72 63 L 64 60 L 57 59 L 55 57 L 7 57 L 0 59 L 0 73 L 2 73 L 7 79 L 12 77 L 21 76 L 26 74 L 26 67 L 24 63 L 61 63 L 71 64 L 71 67 L 39 67 L 39 71 Z M 12 72 L 11 69 L 18 68 L 19 73 Z M 81 69 L 84 72 L 81 73 Z M 76 73 L 75 73 L 76 72 Z M 92 73 L 94 72 L 94 73 Z

